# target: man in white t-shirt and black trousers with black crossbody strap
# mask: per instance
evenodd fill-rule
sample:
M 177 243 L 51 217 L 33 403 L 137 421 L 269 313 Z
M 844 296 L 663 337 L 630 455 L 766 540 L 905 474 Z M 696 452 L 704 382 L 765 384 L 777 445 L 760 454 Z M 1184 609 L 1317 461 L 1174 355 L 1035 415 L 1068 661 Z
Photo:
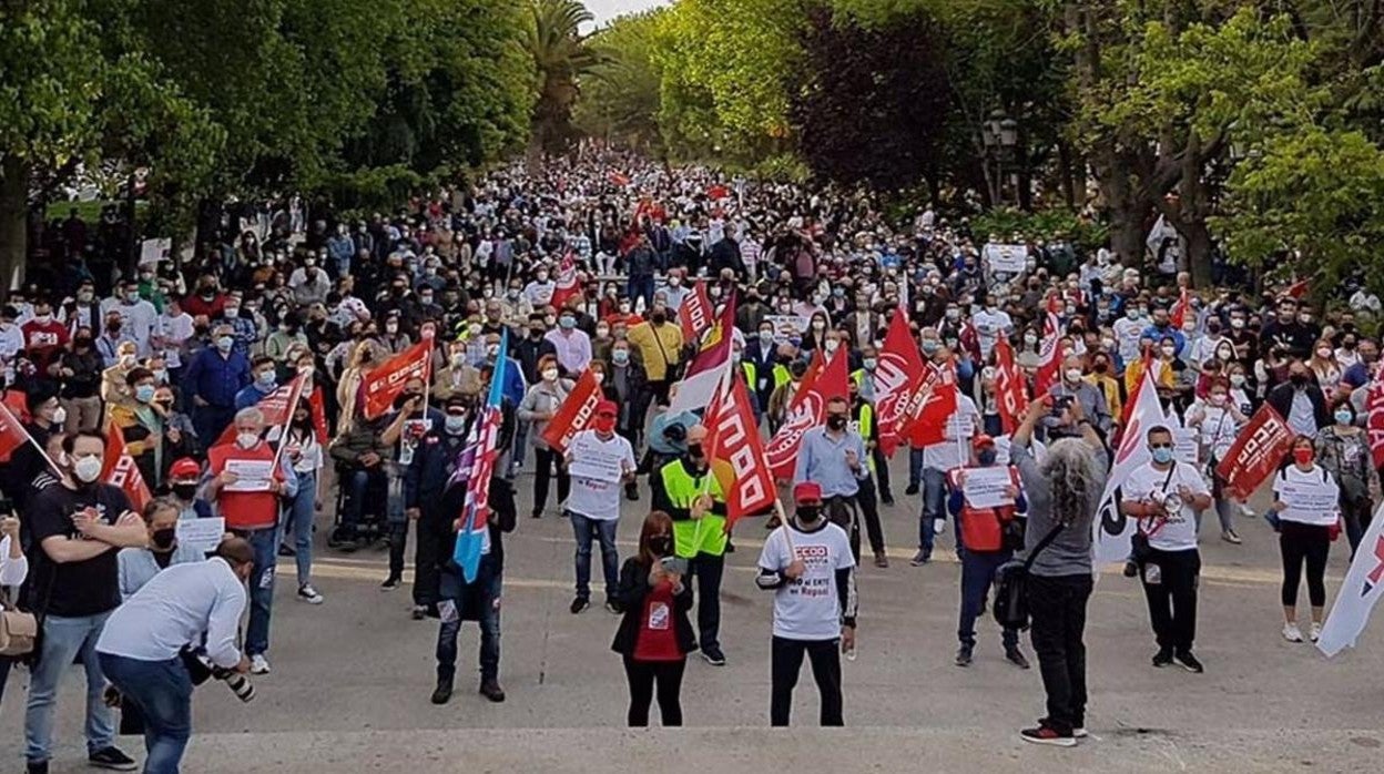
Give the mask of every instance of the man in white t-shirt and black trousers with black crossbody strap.
M 1197 631 L 1199 514 L 1211 507 L 1211 490 L 1194 465 L 1174 460 L 1172 431 L 1157 425 L 1146 436 L 1153 460 L 1136 468 L 1124 483 L 1120 511 L 1139 519 L 1139 534 L 1149 547 L 1135 551 L 1149 618 L 1158 641 L 1153 666 L 1176 659 L 1187 672 L 1201 673 L 1192 655 Z

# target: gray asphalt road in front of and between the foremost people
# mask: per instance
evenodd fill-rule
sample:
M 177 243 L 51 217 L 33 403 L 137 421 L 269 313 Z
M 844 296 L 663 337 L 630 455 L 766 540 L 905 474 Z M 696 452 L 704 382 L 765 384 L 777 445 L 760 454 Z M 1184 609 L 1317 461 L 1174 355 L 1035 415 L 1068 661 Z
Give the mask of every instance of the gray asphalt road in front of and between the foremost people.
M 1093 737 L 1077 750 L 1035 749 L 1016 731 L 1042 714 L 1037 669 L 1002 658 L 991 619 L 978 624 L 970 669 L 954 666 L 959 566 L 952 534 L 933 564 L 912 568 L 918 497 L 884 508 L 893 566 L 859 575 L 859 658 L 844 665 L 847 730 L 815 730 L 808 669 L 799 684 L 792 732 L 768 726 L 770 606 L 754 587 L 761 523 L 736 529 L 722 591 L 721 640 L 729 663 L 688 665 L 688 731 L 623 730 L 626 683 L 610 640 L 617 618 L 599 606 L 567 612 L 573 537 L 566 519 L 530 519 L 531 476 L 520 474 L 520 523 L 505 547 L 501 683 L 508 701 L 476 694 L 477 636 L 461 638 L 457 694 L 433 706 L 437 624 L 410 620 L 406 588 L 382 593 L 385 552 L 327 551 L 322 515 L 316 583 L 321 606 L 293 598 L 292 559 L 281 559 L 268 652 L 273 673 L 255 678 L 244 705 L 221 685 L 195 696 L 195 737 L 185 771 L 591 771 L 646 768 L 662 759 L 725 771 L 825 770 L 1378 770 L 1384 744 L 1384 634 L 1376 624 L 1360 648 L 1327 662 L 1279 636 L 1279 558 L 1259 519 L 1241 519 L 1244 546 L 1222 543 L 1203 525 L 1203 586 L 1197 654 L 1207 673 L 1153 669 L 1156 647 L 1143 595 L 1117 572 L 1099 579 L 1086 630 Z M 623 503 L 621 557 L 632 550 L 648 493 Z M 410 548 L 411 552 L 411 548 Z M 868 558 L 866 558 L 868 564 Z M 1333 546 L 1329 593 L 1347 566 Z M 594 568 L 599 577 L 599 564 Z M 408 576 L 411 577 L 411 576 Z M 1305 595 L 1305 588 L 1304 588 Z M 594 598 L 599 600 L 599 586 Z M 1305 597 L 1301 606 L 1305 620 Z M 1027 638 L 1024 642 L 1028 649 Z M 18 770 L 24 690 L 17 670 L 0 706 L 0 770 Z M 72 670 L 60 699 L 54 771 L 84 770 L 82 677 Z M 655 717 L 657 713 L 655 712 Z M 140 739 L 125 739 L 143 757 Z M 11 763 L 14 762 L 12 767 Z M 537 768 L 534 768 L 537 767 Z

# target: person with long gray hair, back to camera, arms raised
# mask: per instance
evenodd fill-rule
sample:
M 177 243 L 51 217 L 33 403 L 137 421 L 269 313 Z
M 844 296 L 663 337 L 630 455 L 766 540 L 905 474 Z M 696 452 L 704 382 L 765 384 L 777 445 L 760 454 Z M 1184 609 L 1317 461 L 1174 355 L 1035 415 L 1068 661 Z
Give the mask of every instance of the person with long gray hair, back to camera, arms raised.
M 1034 654 L 1048 694 L 1048 714 L 1020 731 L 1027 742 L 1073 746 L 1086 735 L 1086 601 L 1093 587 L 1091 526 L 1106 487 L 1106 447 L 1086 420 L 1081 402 L 1067 410 L 1081 432 L 1048 446 L 1042 461 L 1028 449 L 1034 424 L 1052 411 L 1052 399 L 1028 404 L 1014 431 L 1010 458 L 1028 498 L 1024 555 Z M 1046 546 L 1038 548 L 1039 543 Z M 1016 557 L 1017 558 L 1017 557 Z

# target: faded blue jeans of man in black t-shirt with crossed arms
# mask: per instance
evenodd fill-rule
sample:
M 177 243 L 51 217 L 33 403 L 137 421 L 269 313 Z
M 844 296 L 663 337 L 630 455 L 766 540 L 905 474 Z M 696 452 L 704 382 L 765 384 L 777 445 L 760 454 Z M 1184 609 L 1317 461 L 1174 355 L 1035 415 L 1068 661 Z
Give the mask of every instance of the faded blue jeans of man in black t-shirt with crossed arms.
M 28 760 L 48 760 L 53 744 L 53 710 L 58 703 L 58 684 L 72 662 L 82 656 L 87 673 L 87 752 L 108 748 L 115 741 L 115 720 L 105 706 L 105 673 L 95 656 L 95 641 L 109 612 L 62 618 L 50 615 L 43 620 L 43 652 L 29 677 L 29 706 L 24 716 L 24 756 Z

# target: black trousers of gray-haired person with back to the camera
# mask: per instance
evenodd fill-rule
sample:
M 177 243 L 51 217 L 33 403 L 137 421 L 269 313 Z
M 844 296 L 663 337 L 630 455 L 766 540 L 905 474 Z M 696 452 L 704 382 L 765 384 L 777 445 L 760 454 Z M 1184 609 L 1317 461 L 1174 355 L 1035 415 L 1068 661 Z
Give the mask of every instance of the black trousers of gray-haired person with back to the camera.
M 1028 615 L 1034 654 L 1048 694 L 1044 723 L 1059 731 L 1086 724 L 1086 601 L 1091 573 L 1028 576 Z

